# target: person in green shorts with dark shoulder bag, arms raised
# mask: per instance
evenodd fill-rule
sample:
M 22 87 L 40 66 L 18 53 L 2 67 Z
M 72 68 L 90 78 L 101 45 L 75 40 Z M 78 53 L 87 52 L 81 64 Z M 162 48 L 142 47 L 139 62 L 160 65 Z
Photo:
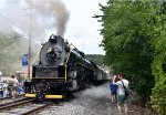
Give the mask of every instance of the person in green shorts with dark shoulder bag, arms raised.
M 115 82 L 115 79 L 118 77 L 120 81 Z M 113 77 L 113 83 L 116 84 L 118 86 L 117 88 L 117 112 L 118 115 L 122 115 L 122 106 L 124 105 L 124 112 L 125 115 L 127 115 L 128 112 L 128 107 L 127 107 L 127 96 L 125 96 L 125 88 L 128 88 L 128 81 L 126 79 L 124 79 L 124 75 L 114 75 Z

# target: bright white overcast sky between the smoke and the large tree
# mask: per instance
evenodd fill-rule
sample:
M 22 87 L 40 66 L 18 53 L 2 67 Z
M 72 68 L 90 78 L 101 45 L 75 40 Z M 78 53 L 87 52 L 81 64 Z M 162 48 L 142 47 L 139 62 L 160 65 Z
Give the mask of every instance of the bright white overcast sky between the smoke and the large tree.
M 6 0 L 0 0 L 0 14 L 3 14 Z M 21 0 L 8 0 L 8 1 L 21 1 Z M 79 50 L 85 54 L 104 54 L 102 48 L 98 44 L 102 41 L 100 35 L 101 23 L 96 19 L 92 18 L 94 14 L 102 14 L 98 3 L 105 4 L 107 0 L 61 0 L 66 10 L 69 11 L 69 21 L 64 32 L 64 39 L 74 44 Z M 7 6 L 7 4 L 6 4 Z M 11 7 L 6 7 L 7 10 Z M 11 12 L 11 11 L 10 11 Z M 7 12 L 8 13 L 8 12 Z M 17 10 L 12 14 L 18 15 Z M 3 14 L 7 18 L 10 14 Z M 17 17 L 19 19 L 21 17 Z M 28 18 L 27 18 L 28 19 Z M 12 20 L 10 18 L 10 20 Z M 13 19 L 14 21 L 14 19 Z M 2 22 L 1 22 L 2 23 Z M 27 23 L 24 23 L 27 24 Z

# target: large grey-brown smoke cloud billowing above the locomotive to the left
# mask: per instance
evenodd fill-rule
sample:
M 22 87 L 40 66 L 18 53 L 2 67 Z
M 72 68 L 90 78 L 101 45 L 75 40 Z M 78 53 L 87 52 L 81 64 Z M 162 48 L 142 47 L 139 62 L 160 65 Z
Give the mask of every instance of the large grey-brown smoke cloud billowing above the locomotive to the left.
M 60 0 L 6 0 L 0 14 L 0 32 L 14 31 L 28 36 L 31 31 L 32 39 L 41 42 L 48 31 L 63 36 L 68 20 L 69 11 Z

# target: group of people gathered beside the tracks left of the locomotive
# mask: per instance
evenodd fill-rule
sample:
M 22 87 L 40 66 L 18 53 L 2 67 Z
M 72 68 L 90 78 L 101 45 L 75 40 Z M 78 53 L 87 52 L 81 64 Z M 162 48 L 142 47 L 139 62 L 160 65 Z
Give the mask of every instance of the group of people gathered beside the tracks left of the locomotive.
M 3 83 L 0 92 L 1 97 L 15 98 L 24 93 L 23 81 L 19 81 L 14 75 L 11 75 L 8 81 L 0 82 Z

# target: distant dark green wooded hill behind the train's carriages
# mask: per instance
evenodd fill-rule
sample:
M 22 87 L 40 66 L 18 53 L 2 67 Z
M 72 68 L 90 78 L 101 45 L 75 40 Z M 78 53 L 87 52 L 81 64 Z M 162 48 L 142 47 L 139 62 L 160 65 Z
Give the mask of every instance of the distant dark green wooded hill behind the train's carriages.
M 86 54 L 86 58 L 89 60 L 93 61 L 94 63 L 96 63 L 97 65 L 102 65 L 103 64 L 104 55 L 101 55 L 101 54 Z

